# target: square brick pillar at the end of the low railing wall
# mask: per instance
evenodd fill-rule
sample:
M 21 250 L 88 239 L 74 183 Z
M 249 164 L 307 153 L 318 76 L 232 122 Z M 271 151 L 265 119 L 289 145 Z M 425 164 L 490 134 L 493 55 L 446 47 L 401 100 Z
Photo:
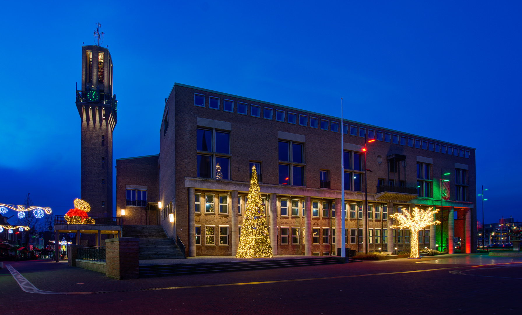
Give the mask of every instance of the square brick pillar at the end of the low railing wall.
M 139 238 L 119 237 L 105 240 L 105 274 L 119 280 L 137 279 L 139 274 Z

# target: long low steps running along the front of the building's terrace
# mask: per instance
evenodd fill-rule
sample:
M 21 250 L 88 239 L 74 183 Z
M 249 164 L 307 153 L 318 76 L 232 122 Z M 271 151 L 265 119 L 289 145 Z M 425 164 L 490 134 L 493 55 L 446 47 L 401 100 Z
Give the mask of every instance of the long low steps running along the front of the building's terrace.
M 139 277 L 149 278 L 173 275 L 187 275 L 196 273 L 262 270 L 284 267 L 330 265 L 340 263 L 339 260 L 331 256 L 309 257 L 310 258 L 271 259 L 262 261 L 142 265 L 139 266 Z M 360 260 L 350 258 L 349 262 L 360 262 Z

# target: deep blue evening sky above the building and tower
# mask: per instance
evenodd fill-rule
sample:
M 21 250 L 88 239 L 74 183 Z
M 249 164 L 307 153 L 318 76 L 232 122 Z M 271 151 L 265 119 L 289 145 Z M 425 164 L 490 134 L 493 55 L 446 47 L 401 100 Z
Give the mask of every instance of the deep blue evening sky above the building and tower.
M 75 84 L 100 22 L 118 99 L 114 158 L 158 154 L 174 82 L 334 116 L 343 97 L 347 119 L 477 148 L 485 221 L 520 220 L 521 6 L 6 2 L 0 202 L 30 192 L 62 215 L 80 196 Z

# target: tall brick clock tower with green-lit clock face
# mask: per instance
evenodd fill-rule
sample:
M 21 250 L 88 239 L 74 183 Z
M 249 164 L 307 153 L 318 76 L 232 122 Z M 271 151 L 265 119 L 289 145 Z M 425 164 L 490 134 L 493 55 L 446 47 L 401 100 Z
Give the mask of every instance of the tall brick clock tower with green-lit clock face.
M 81 89 L 76 107 L 81 118 L 81 199 L 90 217 L 112 217 L 112 132 L 117 122 L 112 94 L 112 58 L 99 45 L 81 48 Z

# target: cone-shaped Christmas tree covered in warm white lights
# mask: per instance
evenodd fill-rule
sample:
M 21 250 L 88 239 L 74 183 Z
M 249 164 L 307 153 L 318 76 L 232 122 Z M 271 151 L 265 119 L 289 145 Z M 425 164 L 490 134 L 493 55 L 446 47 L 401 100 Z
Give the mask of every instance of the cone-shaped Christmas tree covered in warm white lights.
M 252 179 L 250 180 L 250 191 L 246 202 L 243 226 L 241 228 L 241 239 L 239 242 L 238 258 L 271 257 L 272 247 L 270 236 L 266 225 L 261 191 L 257 182 L 256 167 L 252 167 Z

